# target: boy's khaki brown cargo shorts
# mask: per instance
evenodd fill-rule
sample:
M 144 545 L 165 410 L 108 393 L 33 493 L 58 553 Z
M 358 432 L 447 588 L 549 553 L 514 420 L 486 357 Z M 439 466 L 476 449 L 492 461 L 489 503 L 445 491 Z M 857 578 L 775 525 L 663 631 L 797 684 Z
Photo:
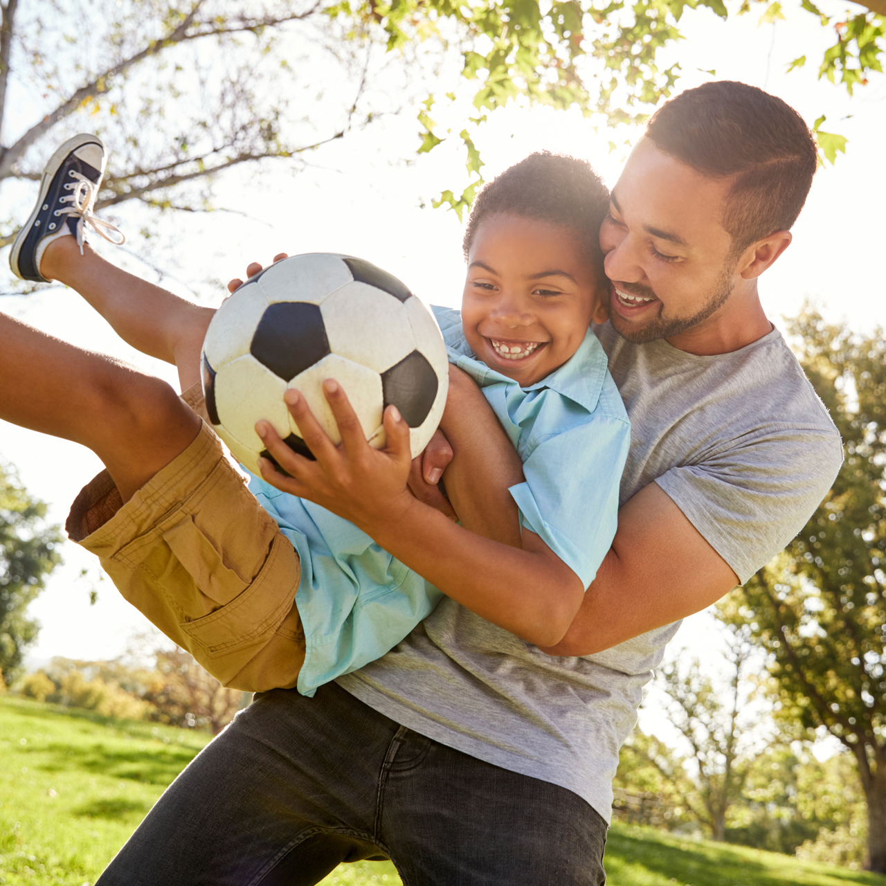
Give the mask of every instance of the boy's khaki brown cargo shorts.
M 206 417 L 199 385 L 183 395 Z M 305 658 L 299 556 L 209 424 L 125 504 L 107 471 L 77 496 L 71 539 L 128 602 L 224 686 L 295 686 Z

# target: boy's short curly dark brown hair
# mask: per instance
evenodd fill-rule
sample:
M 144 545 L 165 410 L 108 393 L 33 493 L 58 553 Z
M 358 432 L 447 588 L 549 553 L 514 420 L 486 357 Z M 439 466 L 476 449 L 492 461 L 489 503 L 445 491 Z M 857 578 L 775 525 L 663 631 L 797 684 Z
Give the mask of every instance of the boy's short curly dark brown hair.
M 547 151 L 530 154 L 480 189 L 464 232 L 464 256 L 468 257 L 481 221 L 491 215 L 517 215 L 567 230 L 602 282 L 599 235 L 608 211 L 609 189 L 587 160 Z

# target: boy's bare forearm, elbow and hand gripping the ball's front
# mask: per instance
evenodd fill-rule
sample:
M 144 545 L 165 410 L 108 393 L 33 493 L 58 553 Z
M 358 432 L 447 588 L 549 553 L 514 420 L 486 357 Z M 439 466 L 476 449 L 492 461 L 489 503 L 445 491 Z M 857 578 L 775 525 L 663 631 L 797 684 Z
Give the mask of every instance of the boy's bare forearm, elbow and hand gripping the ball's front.
M 324 388 L 341 447 L 330 442 L 298 392 L 287 392 L 291 414 L 316 461 L 296 455 L 269 424 L 259 423 L 256 430 L 268 451 L 291 475 L 262 460 L 262 477 L 350 520 L 482 618 L 537 645 L 561 641 L 584 595 L 578 575 L 534 532 L 524 531 L 515 548 L 455 525 L 417 501 L 406 488 L 408 426 L 396 410 L 385 412 L 388 447 L 377 451 L 366 443 L 340 386 L 327 382 Z

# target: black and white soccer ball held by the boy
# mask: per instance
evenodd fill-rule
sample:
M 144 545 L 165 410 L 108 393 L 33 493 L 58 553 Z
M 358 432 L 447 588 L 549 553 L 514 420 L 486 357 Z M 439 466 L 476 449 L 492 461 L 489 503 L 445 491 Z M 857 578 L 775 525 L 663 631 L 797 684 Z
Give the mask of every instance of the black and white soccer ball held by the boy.
M 258 472 L 269 457 L 255 423 L 313 457 L 284 403 L 297 388 L 330 438 L 340 436 L 323 381 L 345 389 L 369 445 L 385 446 L 393 404 L 409 425 L 412 455 L 446 405 L 446 346 L 437 321 L 395 276 L 350 255 L 308 253 L 250 277 L 214 315 L 201 358 L 206 411 L 237 461 Z

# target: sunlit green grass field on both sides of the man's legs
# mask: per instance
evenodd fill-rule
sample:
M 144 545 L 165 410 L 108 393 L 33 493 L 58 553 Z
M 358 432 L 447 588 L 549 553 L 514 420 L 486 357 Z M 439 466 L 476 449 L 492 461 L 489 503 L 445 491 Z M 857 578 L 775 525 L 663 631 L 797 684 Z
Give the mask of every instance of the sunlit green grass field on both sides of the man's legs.
M 0 884 L 91 886 L 208 736 L 0 696 Z M 772 852 L 615 826 L 612 886 L 886 886 L 886 877 Z M 343 865 L 324 886 L 400 878 L 387 862 Z M 517 886 L 517 884 L 515 884 Z

